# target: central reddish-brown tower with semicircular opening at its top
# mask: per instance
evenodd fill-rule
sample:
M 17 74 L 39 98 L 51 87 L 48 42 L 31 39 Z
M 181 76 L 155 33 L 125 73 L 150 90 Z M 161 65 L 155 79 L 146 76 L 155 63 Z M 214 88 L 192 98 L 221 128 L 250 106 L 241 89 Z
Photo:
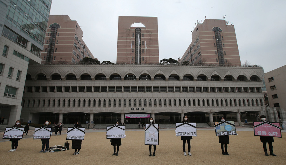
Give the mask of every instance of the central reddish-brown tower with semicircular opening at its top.
M 119 16 L 117 63 L 159 63 L 157 17 Z

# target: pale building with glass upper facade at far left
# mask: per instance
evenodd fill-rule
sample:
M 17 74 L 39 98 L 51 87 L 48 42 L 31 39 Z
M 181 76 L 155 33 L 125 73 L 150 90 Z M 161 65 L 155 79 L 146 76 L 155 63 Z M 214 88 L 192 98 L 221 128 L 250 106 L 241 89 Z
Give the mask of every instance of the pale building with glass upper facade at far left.
M 29 64 L 40 64 L 52 0 L 0 1 L 0 116 L 20 119 Z M 23 103 L 24 104 L 24 103 Z

